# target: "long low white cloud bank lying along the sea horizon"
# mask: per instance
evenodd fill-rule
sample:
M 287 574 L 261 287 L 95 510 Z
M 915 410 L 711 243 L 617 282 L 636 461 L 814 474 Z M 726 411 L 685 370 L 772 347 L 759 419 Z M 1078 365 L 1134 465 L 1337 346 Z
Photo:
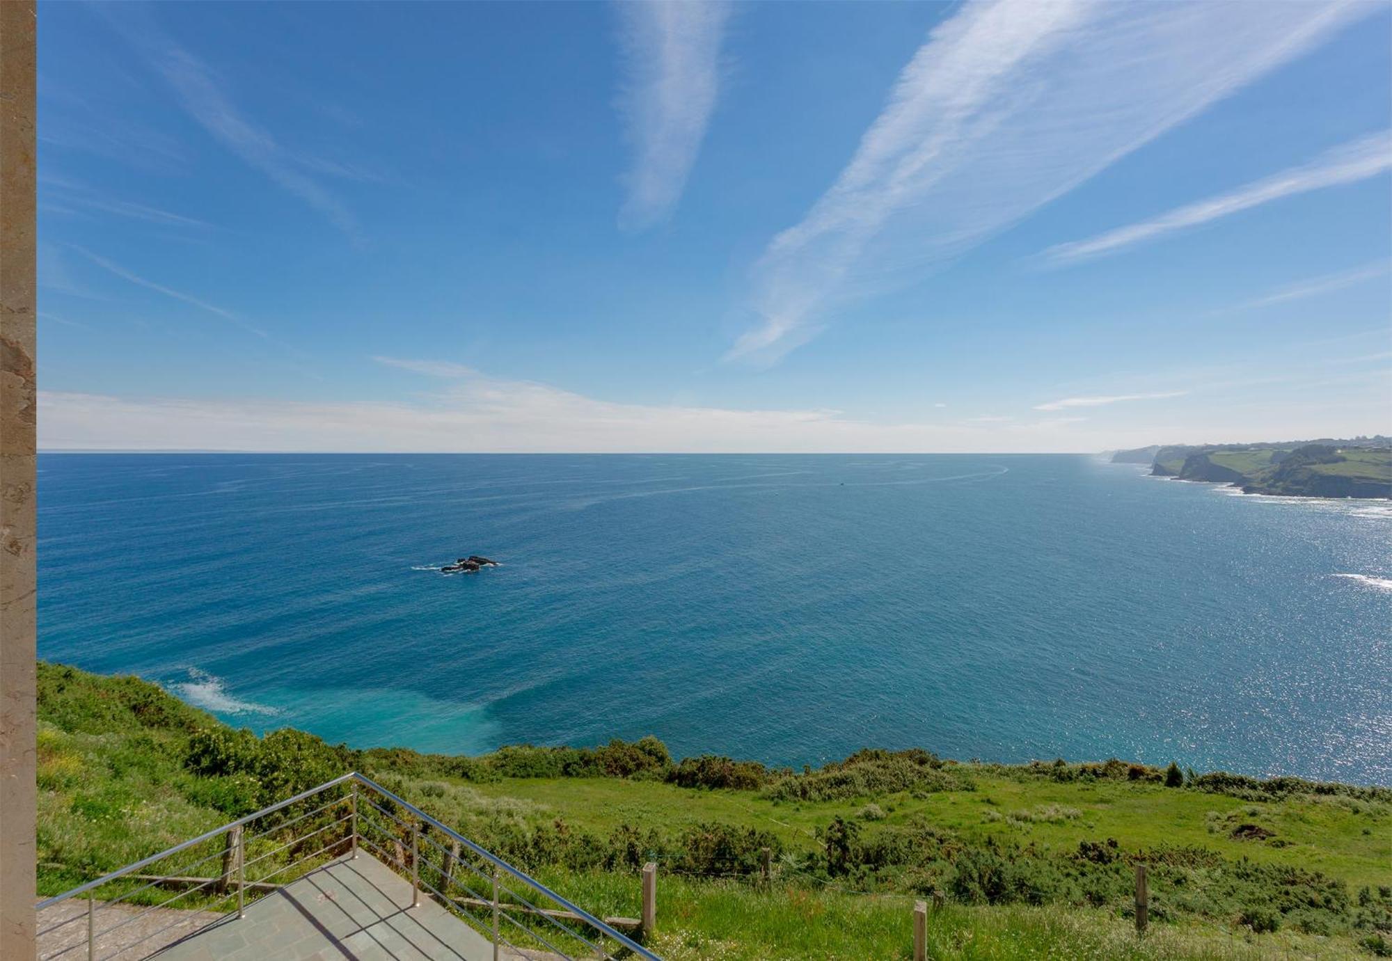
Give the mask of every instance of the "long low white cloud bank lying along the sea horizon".
M 619 404 L 434 361 L 381 359 L 445 377 L 412 403 L 113 397 L 43 391 L 45 450 L 267 451 L 1027 451 L 1100 450 L 1066 425 L 874 423 L 827 409 Z M 457 366 L 457 365 L 454 365 Z

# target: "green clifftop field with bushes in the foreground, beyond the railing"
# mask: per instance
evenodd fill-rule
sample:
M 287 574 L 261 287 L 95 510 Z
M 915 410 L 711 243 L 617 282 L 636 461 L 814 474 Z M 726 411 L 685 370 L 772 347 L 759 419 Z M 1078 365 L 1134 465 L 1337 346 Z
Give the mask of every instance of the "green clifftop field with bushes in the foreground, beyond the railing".
M 912 904 L 934 893 L 938 958 L 1392 955 L 1386 787 L 926 751 L 792 772 L 674 762 L 656 738 L 355 751 L 46 663 L 39 719 L 42 894 L 356 769 L 596 914 L 636 914 L 638 869 L 657 861 L 670 958 L 906 958 Z

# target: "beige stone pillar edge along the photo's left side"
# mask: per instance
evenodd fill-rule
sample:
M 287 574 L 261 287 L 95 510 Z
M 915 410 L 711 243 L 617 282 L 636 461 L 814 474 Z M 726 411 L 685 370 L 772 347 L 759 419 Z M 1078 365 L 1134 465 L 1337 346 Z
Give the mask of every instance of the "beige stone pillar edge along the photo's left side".
M 33 957 L 35 3 L 0 0 L 0 958 Z

